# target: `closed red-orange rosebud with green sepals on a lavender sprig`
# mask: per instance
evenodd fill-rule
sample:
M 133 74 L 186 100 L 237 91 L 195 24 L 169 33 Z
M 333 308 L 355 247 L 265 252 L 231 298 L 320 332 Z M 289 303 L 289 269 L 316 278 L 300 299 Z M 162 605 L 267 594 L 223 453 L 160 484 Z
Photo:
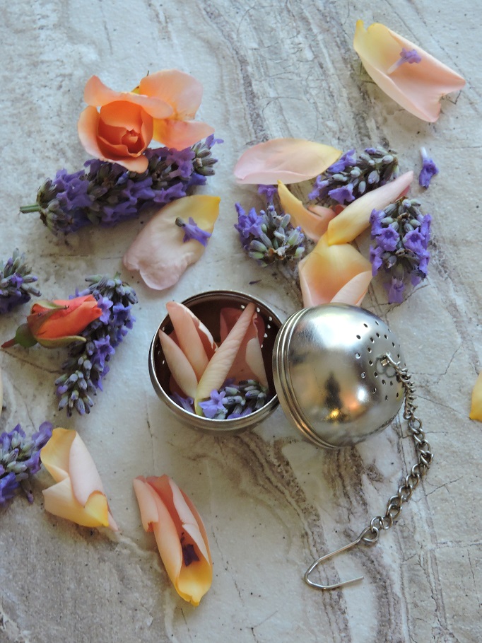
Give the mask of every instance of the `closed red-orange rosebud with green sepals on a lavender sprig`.
M 75 341 L 85 342 L 78 333 L 100 315 L 102 310 L 93 295 L 34 303 L 27 323 L 20 325 L 15 338 L 2 344 L 2 348 L 14 344 L 30 347 L 37 343 L 46 348 L 57 348 Z

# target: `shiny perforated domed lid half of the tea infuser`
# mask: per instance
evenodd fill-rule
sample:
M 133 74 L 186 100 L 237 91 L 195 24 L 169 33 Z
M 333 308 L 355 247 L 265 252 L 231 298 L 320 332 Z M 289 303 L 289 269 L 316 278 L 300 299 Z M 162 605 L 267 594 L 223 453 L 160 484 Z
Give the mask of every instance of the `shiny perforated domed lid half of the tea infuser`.
M 319 446 L 356 444 L 384 429 L 399 412 L 404 388 L 389 353 L 404 366 L 399 340 L 363 308 L 304 308 L 278 332 L 273 353 L 283 411 Z

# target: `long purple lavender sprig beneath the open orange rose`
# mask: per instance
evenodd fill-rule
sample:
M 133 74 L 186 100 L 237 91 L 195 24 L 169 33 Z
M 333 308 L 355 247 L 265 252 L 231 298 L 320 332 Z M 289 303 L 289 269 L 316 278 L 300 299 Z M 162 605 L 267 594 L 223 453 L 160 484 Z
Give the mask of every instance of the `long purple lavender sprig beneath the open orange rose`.
M 84 226 L 114 226 L 139 216 L 149 206 L 161 206 L 187 196 L 214 174 L 211 148 L 221 139 L 213 135 L 184 150 L 147 149 L 148 168 L 129 172 L 118 163 L 90 159 L 86 170 L 59 170 L 37 192 L 37 202 L 20 212 L 40 212 L 54 234 L 68 234 Z

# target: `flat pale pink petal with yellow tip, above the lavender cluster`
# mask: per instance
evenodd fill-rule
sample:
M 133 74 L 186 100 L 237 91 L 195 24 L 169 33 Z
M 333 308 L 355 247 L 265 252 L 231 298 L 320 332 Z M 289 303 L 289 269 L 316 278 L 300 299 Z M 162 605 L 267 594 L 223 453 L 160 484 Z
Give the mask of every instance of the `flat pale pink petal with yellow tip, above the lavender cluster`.
M 331 166 L 341 151 L 304 139 L 272 139 L 247 149 L 237 161 L 237 183 L 300 183 Z

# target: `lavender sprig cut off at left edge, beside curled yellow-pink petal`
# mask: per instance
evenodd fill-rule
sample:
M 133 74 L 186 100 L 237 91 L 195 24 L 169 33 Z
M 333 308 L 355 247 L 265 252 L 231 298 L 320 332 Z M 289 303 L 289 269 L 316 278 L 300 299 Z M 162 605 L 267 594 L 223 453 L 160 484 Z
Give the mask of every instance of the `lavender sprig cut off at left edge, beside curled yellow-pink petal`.
M 43 422 L 37 433 L 28 439 L 20 424 L 10 433 L 0 435 L 0 505 L 11 498 L 18 487 L 33 502 L 33 495 L 27 487 L 28 477 L 40 469 L 40 449 L 52 436 L 52 424 Z

